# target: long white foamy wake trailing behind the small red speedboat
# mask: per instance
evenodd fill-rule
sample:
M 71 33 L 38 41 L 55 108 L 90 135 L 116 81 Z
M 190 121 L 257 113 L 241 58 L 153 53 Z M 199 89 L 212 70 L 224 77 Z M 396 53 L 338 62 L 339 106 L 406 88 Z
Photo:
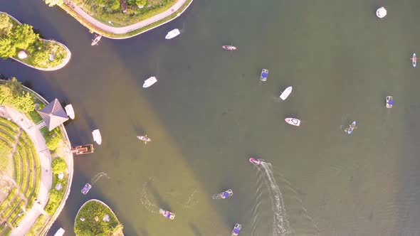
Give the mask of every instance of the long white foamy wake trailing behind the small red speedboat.
M 280 188 L 275 181 L 273 171 L 271 169 L 271 163 L 261 161 L 261 169 L 266 178 L 266 183 L 269 191 L 268 194 L 271 198 L 271 205 L 273 209 L 273 236 L 283 236 L 290 233 L 290 225 L 286 218 L 285 206 L 283 203 L 283 196 L 281 195 Z

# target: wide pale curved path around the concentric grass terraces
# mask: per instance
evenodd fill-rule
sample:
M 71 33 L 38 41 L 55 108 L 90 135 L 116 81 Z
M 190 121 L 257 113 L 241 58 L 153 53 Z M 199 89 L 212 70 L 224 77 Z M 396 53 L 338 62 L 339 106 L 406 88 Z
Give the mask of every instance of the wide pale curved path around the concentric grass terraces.
M 48 203 L 48 191 L 51 189 L 53 182 L 51 154 L 49 151 L 45 151 L 47 149 L 46 141 L 41 132 L 39 129 L 36 129 L 36 125 L 26 116 L 11 107 L 6 106 L 0 107 L 0 116 L 11 119 L 31 137 L 41 163 L 41 185 L 39 186 L 39 192 L 36 196 L 41 204 L 34 203 L 33 207 L 26 211 L 26 216 L 19 223 L 19 227 L 15 227 L 14 230 L 11 231 L 11 236 L 21 236 L 26 235 L 26 232 L 31 230 L 31 227 L 38 216 L 44 213 L 43 209 Z

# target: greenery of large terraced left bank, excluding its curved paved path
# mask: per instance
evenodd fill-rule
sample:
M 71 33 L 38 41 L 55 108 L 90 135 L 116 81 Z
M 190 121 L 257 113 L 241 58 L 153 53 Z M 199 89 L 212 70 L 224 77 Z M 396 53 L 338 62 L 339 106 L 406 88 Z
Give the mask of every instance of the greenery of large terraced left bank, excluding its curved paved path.
M 25 114 L 37 124 L 42 121 L 41 116 L 34 110 L 45 104 L 32 92 L 21 85 L 16 78 L 0 80 L 0 107 L 6 105 Z M 3 113 L 4 108 L 0 108 Z M 26 235 L 39 235 L 44 232 L 46 224 L 58 210 L 63 201 L 68 185 L 68 166 L 63 156 L 63 134 L 56 128 L 51 132 L 46 127 L 40 129 L 46 140 L 46 146 L 52 156 L 51 169 L 53 172 L 52 188 L 49 191 L 48 203 Z M 6 198 L 0 199 L 0 217 L 6 223 L 0 225 L 0 235 L 9 235 L 13 227 L 31 209 L 38 195 L 41 181 L 41 165 L 35 146 L 31 138 L 14 122 L 0 117 L 0 154 L 6 157 L 0 161 L 1 191 Z M 0 194 L 1 196 L 1 194 Z

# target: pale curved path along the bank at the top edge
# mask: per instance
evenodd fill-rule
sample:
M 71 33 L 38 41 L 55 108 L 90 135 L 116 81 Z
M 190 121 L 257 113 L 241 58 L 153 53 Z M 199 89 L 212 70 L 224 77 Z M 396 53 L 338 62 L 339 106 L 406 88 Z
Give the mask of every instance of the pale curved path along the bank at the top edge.
M 105 23 L 102 23 L 102 22 L 96 20 L 95 18 L 93 18 L 92 16 L 87 14 L 85 11 L 80 9 L 79 6 L 77 6 L 76 4 L 73 4 L 71 1 L 65 1 L 65 2 L 68 3 L 68 6 L 71 6 L 73 11 L 75 11 L 79 16 L 85 18 L 86 21 L 89 21 L 89 23 L 91 23 L 94 26 L 102 29 L 103 31 L 107 31 L 107 32 L 110 32 L 110 33 L 115 33 L 115 34 L 123 34 L 123 33 L 128 33 L 128 32 L 131 32 L 131 31 L 135 31 L 137 28 L 142 28 L 142 27 L 148 26 L 151 23 L 162 20 L 163 18 L 171 15 L 175 11 L 178 11 L 178 9 L 180 9 L 181 6 L 184 5 L 185 1 L 187 1 L 187 0 L 178 0 L 177 3 L 175 3 L 174 6 L 172 6 L 170 9 L 167 9 L 166 11 L 164 11 L 162 13 L 159 13 L 157 15 L 154 15 L 154 16 L 150 17 L 150 18 L 147 18 L 144 21 L 133 23 L 130 26 L 124 26 L 124 27 L 109 26 Z

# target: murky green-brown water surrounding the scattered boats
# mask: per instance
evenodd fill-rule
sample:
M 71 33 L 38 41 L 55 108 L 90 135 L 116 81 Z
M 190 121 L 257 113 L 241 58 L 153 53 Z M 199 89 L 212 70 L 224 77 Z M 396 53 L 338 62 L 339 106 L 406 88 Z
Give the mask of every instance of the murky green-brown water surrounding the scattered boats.
M 92 47 L 93 35 L 61 9 L 3 1 L 1 11 L 68 45 L 72 58 L 45 73 L 2 60 L 0 73 L 73 104 L 73 145 L 93 143 L 93 129 L 103 136 L 94 154 L 75 156 L 70 196 L 48 235 L 58 227 L 73 235 L 90 198 L 110 205 L 125 235 L 229 235 L 236 222 L 252 236 L 420 235 L 420 69 L 410 62 L 420 52 L 419 8 L 416 0 L 196 0 L 149 33 Z M 173 28 L 182 34 L 165 40 Z M 143 89 L 152 75 L 158 82 Z M 264 162 L 253 166 L 250 156 Z M 228 188 L 231 198 L 211 199 Z

